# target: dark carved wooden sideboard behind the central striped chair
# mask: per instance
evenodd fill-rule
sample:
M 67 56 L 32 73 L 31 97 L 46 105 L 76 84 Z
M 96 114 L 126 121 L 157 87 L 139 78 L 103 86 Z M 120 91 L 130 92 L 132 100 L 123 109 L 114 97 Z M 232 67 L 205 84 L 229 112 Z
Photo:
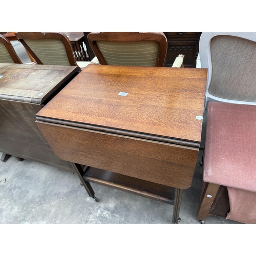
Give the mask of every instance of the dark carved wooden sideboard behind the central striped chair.
M 90 32 L 83 32 L 86 40 L 87 52 L 90 60 L 95 54 L 90 47 L 87 35 Z M 202 32 L 163 32 L 168 41 L 168 48 L 165 57 L 164 67 L 172 67 L 178 54 L 184 54 L 184 67 L 196 68 L 196 60 L 199 53 L 199 39 Z

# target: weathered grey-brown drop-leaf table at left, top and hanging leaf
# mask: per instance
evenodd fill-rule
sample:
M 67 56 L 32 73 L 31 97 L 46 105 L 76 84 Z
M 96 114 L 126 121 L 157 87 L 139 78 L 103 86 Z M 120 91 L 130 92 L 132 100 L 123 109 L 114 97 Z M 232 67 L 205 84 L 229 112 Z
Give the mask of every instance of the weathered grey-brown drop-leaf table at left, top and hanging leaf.
M 75 66 L 0 63 L 1 160 L 15 156 L 73 170 L 58 158 L 38 130 L 35 114 L 79 72 Z

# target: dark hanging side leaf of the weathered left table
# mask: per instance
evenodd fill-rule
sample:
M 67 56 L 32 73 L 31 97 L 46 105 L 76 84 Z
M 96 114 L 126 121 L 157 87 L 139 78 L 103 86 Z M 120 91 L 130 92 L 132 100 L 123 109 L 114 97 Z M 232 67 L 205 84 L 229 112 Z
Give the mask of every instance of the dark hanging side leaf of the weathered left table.
M 41 105 L 0 100 L 0 152 L 73 170 L 58 158 L 35 123 Z

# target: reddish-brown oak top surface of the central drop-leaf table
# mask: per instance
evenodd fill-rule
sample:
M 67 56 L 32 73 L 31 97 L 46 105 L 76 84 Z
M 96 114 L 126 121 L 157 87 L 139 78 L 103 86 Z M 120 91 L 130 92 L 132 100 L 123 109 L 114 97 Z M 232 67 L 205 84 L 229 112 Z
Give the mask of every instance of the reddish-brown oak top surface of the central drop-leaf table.
M 206 76 L 207 69 L 89 65 L 37 116 L 200 142 Z

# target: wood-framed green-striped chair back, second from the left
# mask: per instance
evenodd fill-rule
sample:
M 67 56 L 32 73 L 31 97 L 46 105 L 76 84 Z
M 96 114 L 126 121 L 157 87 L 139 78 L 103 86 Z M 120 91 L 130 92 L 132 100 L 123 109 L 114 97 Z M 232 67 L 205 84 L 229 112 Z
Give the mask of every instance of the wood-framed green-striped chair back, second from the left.
M 77 66 L 69 38 L 61 32 L 17 32 L 18 40 L 41 65 Z

